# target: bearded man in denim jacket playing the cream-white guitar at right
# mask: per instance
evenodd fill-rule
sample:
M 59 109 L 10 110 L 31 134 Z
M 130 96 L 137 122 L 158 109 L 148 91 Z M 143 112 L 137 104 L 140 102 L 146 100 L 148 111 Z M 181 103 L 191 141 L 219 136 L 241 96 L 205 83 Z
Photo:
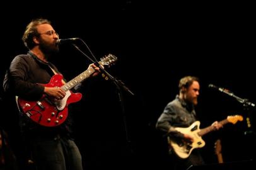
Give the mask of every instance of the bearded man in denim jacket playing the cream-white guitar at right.
M 197 121 L 194 106 L 197 105 L 197 98 L 199 96 L 199 79 L 193 76 L 183 77 L 180 79 L 178 88 L 179 94 L 166 105 L 160 118 L 158 118 L 156 128 L 165 133 L 169 142 L 172 141 L 173 145 L 170 145 L 170 153 L 175 152 L 175 154 L 171 154 L 173 164 L 175 164 L 174 169 L 187 169 L 192 165 L 204 164 L 199 150 L 192 150 L 193 145 L 190 145 L 194 144 L 195 140 L 197 140 L 195 138 L 197 134 L 190 132 L 199 130 L 199 123 L 197 122 L 192 129 L 188 128 Z M 184 129 L 179 130 L 177 127 Z M 218 130 L 222 127 L 222 124 L 214 122 L 211 127 L 214 130 Z M 200 144 L 200 142 L 199 140 L 198 143 Z M 182 157 L 177 154 L 179 152 L 182 153 L 180 154 Z

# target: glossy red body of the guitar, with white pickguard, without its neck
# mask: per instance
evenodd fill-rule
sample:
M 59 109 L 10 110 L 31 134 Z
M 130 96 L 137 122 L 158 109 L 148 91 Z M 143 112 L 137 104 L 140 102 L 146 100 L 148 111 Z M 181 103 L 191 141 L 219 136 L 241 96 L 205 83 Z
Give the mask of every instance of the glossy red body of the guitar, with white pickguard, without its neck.
M 50 79 L 48 84 L 42 84 L 45 87 L 53 88 L 59 87 L 64 83 L 62 82 L 62 75 L 55 74 Z M 81 93 L 73 93 L 66 91 L 66 96 L 59 101 L 52 101 L 47 95 L 43 95 L 38 101 L 26 101 L 21 98 L 17 99 L 20 111 L 26 114 L 34 122 L 45 127 L 54 127 L 61 125 L 67 118 L 68 108 L 70 103 L 75 103 L 82 98 Z

